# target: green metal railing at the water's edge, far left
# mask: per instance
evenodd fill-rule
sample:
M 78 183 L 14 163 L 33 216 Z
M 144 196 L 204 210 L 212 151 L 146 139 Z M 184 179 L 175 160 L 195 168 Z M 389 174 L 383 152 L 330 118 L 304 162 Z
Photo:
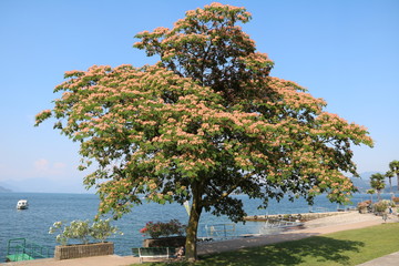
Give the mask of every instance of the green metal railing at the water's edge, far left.
M 49 258 L 51 249 L 25 238 L 13 238 L 8 242 L 6 262 L 32 260 L 37 258 Z

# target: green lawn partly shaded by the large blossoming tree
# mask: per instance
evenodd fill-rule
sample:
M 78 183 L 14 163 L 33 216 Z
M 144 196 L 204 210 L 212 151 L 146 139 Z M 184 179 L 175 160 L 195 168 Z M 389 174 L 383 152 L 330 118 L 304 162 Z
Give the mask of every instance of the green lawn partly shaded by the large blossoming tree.
M 147 263 L 153 266 L 213 265 L 358 265 L 399 250 L 399 224 L 381 224 L 269 246 L 202 256 L 195 264 Z

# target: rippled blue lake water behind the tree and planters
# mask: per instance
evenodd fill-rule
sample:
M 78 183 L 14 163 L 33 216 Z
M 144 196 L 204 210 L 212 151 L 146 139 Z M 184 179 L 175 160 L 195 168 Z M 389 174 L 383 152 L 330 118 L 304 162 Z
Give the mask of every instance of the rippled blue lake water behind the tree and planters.
M 248 215 L 264 214 L 290 214 L 307 213 L 309 206 L 304 200 L 291 203 L 284 200 L 279 203 L 270 201 L 267 209 L 257 209 L 258 201 L 248 200 L 245 195 L 237 195 L 244 202 Z M 369 200 L 369 195 L 356 194 L 352 198 L 354 205 L 358 202 Z M 376 196 L 374 196 L 376 198 Z M 29 208 L 18 211 L 16 208 L 19 200 L 28 200 Z M 390 198 L 383 194 L 383 198 Z M 49 193 L 0 193 L 0 262 L 4 260 L 7 243 L 11 238 L 24 237 L 40 245 L 53 247 L 57 245 L 55 235 L 49 235 L 49 227 L 57 221 L 66 223 L 73 219 L 92 221 L 96 214 L 99 198 L 93 194 L 49 194 Z M 328 211 L 336 211 L 337 204 L 329 203 L 326 196 L 316 198 L 313 209 L 323 207 Z M 133 207 L 133 211 L 119 221 L 112 222 L 123 235 L 109 238 L 115 244 L 115 254 L 130 255 L 132 247 L 142 246 L 144 237 L 139 233 L 145 223 L 150 221 L 167 222 L 172 218 L 187 223 L 188 216 L 185 208 L 178 204 L 158 205 L 145 203 Z M 226 217 L 215 217 L 203 213 L 198 228 L 198 236 L 206 236 L 205 225 L 232 223 Z M 236 234 L 256 234 L 260 223 L 247 222 L 245 225 L 236 225 Z

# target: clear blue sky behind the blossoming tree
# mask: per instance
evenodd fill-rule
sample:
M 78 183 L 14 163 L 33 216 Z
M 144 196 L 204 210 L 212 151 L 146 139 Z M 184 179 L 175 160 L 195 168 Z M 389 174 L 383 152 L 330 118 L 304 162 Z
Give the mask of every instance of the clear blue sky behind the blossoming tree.
M 84 192 L 78 145 L 33 127 L 70 70 L 154 63 L 134 35 L 172 27 L 212 1 L 0 1 L 0 185 L 33 192 Z M 355 147 L 358 171 L 385 173 L 399 160 L 399 1 L 247 0 L 243 29 L 275 61 L 272 75 L 324 98 L 327 111 L 369 129 L 376 145 Z

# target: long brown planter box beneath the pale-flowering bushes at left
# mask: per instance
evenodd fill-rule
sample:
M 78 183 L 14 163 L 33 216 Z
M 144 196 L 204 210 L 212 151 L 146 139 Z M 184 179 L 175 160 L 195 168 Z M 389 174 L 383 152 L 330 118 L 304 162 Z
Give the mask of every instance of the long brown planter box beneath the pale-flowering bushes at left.
M 114 253 L 114 244 L 112 242 L 55 246 L 55 259 L 81 258 L 92 256 L 112 255 Z

